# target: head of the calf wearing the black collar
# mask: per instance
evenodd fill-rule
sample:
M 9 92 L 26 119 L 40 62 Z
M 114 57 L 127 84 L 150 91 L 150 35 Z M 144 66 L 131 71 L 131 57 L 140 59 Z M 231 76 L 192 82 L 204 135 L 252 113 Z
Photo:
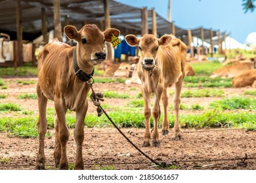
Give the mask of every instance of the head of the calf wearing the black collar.
M 72 26 L 64 27 L 64 32 L 69 39 L 77 41 L 77 56 L 83 61 L 98 64 L 106 58 L 104 42 L 111 42 L 111 37 L 118 37 L 120 31 L 107 29 L 102 32 L 96 25 L 84 25 L 79 31 Z

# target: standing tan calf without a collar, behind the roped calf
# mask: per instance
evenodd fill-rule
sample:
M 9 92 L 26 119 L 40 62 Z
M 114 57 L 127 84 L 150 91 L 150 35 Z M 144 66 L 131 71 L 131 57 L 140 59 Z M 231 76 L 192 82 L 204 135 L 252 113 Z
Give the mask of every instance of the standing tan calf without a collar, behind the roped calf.
M 135 35 L 126 35 L 125 41 L 130 46 L 139 46 L 141 56 L 138 63 L 137 73 L 142 82 L 142 95 L 144 99 L 145 133 L 143 146 L 150 146 L 150 116 L 154 118 L 154 130 L 152 135 L 153 146 L 159 146 L 158 118 L 160 108 L 155 97 L 154 106 L 150 108 L 150 94 L 156 93 L 163 101 L 163 135 L 168 134 L 169 120 L 167 117 L 167 106 L 169 94 L 168 86 L 175 84 L 173 97 L 175 111 L 175 139 L 181 139 L 181 127 L 179 125 L 179 106 L 181 103 L 181 88 L 184 78 L 184 65 L 186 63 L 186 45 L 171 35 L 163 35 L 157 39 L 154 35 L 144 35 L 138 39 Z M 171 44 L 170 44 L 171 42 Z M 154 80 L 154 82 L 153 82 Z M 155 85 L 155 86 L 154 86 Z M 163 95 L 162 95 L 163 94 Z M 156 94 L 155 94 L 156 95 Z

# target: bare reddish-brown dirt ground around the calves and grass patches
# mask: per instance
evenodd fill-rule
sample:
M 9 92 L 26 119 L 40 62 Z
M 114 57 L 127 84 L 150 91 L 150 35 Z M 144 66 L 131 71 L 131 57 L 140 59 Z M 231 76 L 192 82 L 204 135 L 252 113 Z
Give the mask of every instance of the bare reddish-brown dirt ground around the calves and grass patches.
M 7 90 L 0 90 L 0 94 L 7 94 L 7 99 L 1 99 L 0 103 L 18 103 L 27 110 L 35 111 L 37 115 L 37 101 L 32 99 L 17 99 L 20 93 L 35 93 L 36 84 L 17 84 L 16 80 L 34 80 L 37 78 L 5 78 Z M 136 90 L 130 90 L 137 88 Z M 198 89 L 198 88 L 197 88 Z M 114 90 L 116 92 L 136 95 L 140 92 L 137 84 L 129 86 L 125 84 L 95 84 L 95 91 Z M 184 90 L 192 90 L 184 88 Z M 246 88 L 224 88 L 224 97 L 240 95 Z M 207 105 L 217 98 L 184 98 L 182 103 Z M 219 98 L 218 98 L 219 99 Z M 129 99 L 105 99 L 104 103 L 121 107 Z M 48 107 L 53 107 L 49 102 Z M 88 112 L 95 112 L 95 107 L 89 102 Z M 196 111 L 200 113 L 202 111 Z M 194 113 L 194 111 L 181 110 L 182 113 Z M 0 113 L 3 116 L 12 116 L 12 113 Z M 160 135 L 160 147 L 143 147 L 144 129 L 121 129 L 131 141 L 144 153 L 155 161 L 173 163 L 176 169 L 256 169 L 256 132 L 242 129 L 182 129 L 182 141 L 175 141 L 173 133 Z M 50 131 L 54 134 L 54 131 Z M 72 130 L 71 130 L 72 134 Z M 37 154 L 38 139 L 22 139 L 11 137 L 7 133 L 0 132 L 0 169 L 34 169 Z M 45 156 L 47 169 L 54 168 L 54 135 L 45 139 Z M 74 135 L 70 135 L 68 142 L 68 158 L 74 163 L 75 141 Z M 241 159 L 244 158 L 244 159 Z M 5 161 L 5 159 L 9 159 Z M 83 159 L 85 169 L 99 169 L 109 167 L 114 169 L 161 169 L 145 158 L 129 142 L 125 140 L 113 128 L 89 128 L 85 129 L 85 141 L 83 142 Z M 206 160 L 213 161 L 206 161 Z M 222 160 L 221 160 L 222 159 Z M 221 161 L 220 161 L 221 160 Z

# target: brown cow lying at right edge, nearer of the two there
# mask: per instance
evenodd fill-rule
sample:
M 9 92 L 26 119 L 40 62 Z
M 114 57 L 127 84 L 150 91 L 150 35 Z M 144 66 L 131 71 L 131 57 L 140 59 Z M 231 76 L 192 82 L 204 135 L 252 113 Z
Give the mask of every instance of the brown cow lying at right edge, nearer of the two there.
M 242 88 L 246 86 L 256 87 L 256 69 L 243 71 L 240 75 L 234 77 L 232 86 L 234 88 Z

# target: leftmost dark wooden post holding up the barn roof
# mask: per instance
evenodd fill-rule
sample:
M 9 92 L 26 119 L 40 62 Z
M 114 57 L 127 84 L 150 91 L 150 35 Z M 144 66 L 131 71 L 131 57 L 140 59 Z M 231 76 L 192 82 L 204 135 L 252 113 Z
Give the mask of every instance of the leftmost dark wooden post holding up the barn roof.
M 17 66 L 23 65 L 23 49 L 22 49 L 22 20 L 21 20 L 21 9 L 20 9 L 20 0 L 16 0 L 16 31 L 17 31 L 17 46 L 16 46 L 16 63 L 14 63 L 14 69 L 16 70 Z

